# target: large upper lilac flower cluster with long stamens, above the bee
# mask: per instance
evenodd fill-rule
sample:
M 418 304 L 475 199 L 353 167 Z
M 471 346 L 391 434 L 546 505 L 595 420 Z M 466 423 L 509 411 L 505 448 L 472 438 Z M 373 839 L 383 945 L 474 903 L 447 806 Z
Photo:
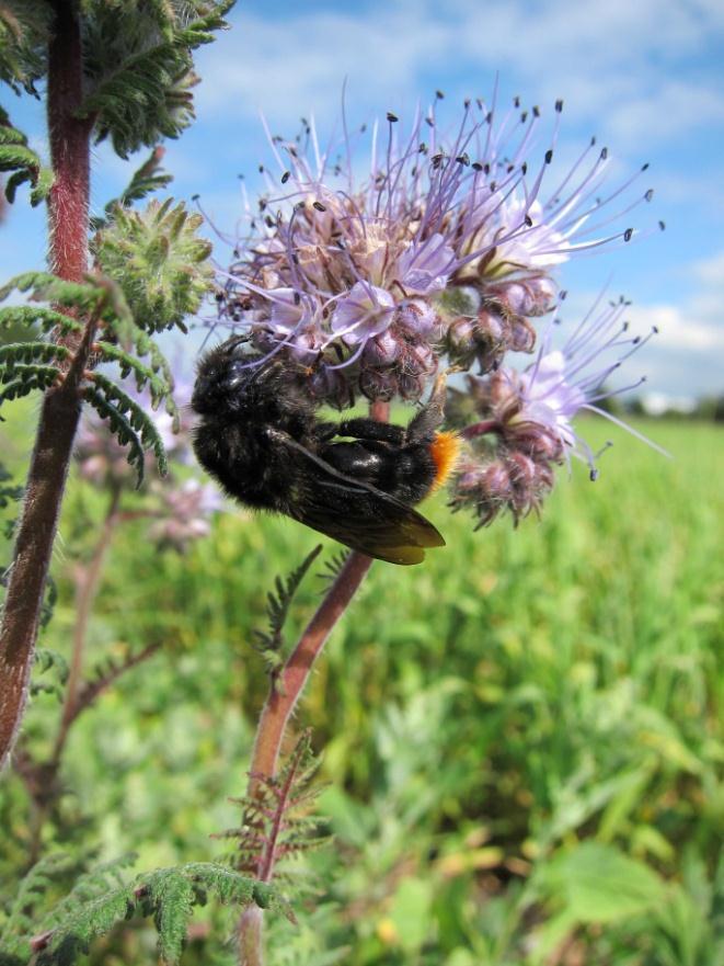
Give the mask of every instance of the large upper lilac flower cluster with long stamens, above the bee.
M 302 140 L 271 138 L 278 174 L 265 173 L 268 193 L 223 276 L 220 314 L 246 326 L 258 352 L 303 361 L 333 405 L 372 387 L 416 397 L 445 353 L 487 371 L 508 351 L 532 351 L 529 320 L 555 302 L 550 271 L 631 237 L 605 230 L 618 215 L 600 211 L 628 183 L 606 196 L 608 154 L 594 141 L 548 186 L 560 103 L 539 149 L 537 109 L 516 102 L 498 120 L 495 99 L 466 102 L 451 136 L 436 112 L 418 111 L 406 132 L 392 114 L 387 128 L 375 124 L 363 181 L 344 118 L 338 151 L 322 152 L 312 126 Z M 474 297 L 461 311 L 462 288 Z

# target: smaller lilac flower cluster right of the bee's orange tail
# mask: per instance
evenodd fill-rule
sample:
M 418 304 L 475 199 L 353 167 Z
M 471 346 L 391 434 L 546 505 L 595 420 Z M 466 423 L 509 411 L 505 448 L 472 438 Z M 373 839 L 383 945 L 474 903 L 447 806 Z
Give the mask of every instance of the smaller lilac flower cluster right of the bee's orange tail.
M 461 430 L 470 450 L 460 466 L 455 505 L 473 507 L 481 523 L 503 509 L 509 509 L 517 521 L 540 507 L 553 486 L 553 466 L 572 455 L 585 461 L 596 479 L 598 454 L 573 424 L 584 410 L 597 412 L 664 453 L 597 405 L 644 382 L 642 377 L 633 385 L 606 388 L 609 377 L 653 334 L 629 336 L 622 320 L 627 307 L 623 300 L 598 312 L 594 307 L 562 349 L 552 346 L 549 327 L 538 357 L 522 372 L 504 366 L 485 378 L 468 377 L 468 394 L 457 394 L 450 407 L 458 423 L 471 409 L 478 417 Z

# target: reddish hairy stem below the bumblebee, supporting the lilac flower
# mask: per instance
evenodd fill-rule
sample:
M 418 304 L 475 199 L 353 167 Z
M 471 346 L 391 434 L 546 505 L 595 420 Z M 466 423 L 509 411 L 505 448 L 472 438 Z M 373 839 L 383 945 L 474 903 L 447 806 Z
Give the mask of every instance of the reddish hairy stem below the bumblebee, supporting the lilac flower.
M 370 416 L 380 422 L 387 421 L 389 411 L 390 407 L 387 402 L 374 402 L 370 407 Z M 273 682 L 256 726 L 248 787 L 250 798 L 260 793 L 265 779 L 273 779 L 276 775 L 287 724 L 312 667 L 371 565 L 371 558 L 364 554 L 353 552 L 349 555 L 281 672 Z M 273 867 L 264 870 L 266 882 L 272 879 L 273 873 Z M 261 909 L 249 907 L 242 912 L 239 920 L 240 966 L 262 966 L 264 963 L 263 924 L 264 916 Z

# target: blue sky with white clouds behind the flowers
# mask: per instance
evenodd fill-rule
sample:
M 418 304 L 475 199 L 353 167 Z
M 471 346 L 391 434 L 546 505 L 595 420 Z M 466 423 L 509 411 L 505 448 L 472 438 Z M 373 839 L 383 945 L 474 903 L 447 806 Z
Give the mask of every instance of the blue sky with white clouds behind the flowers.
M 545 116 L 564 99 L 560 156 L 595 134 L 610 149 L 612 185 L 651 162 L 639 184 L 654 200 L 629 216 L 650 237 L 564 265 L 566 311 L 584 310 L 612 276 L 610 294 L 634 302 L 633 325 L 660 329 L 635 360 L 650 389 L 724 391 L 722 0 L 242 0 L 231 22 L 198 55 L 197 123 L 166 145 L 176 195 L 199 193 L 232 230 L 238 175 L 253 192 L 258 162 L 269 161 L 260 112 L 274 133 L 295 133 L 302 115 L 331 132 L 346 78 L 355 124 L 388 110 L 410 117 L 436 89 L 453 118 L 466 96 L 490 98 L 497 72 L 502 102 L 519 94 Z M 42 109 L 8 92 L 3 104 L 44 149 Z M 97 208 L 133 168 L 95 149 Z M 15 205 L 0 241 L 3 276 L 42 263 L 43 230 L 43 212 Z

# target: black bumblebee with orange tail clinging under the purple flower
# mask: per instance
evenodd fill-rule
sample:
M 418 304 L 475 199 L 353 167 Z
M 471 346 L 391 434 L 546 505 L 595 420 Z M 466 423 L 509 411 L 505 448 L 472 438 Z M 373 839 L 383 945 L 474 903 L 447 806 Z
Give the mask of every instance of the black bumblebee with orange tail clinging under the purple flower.
M 194 386 L 194 451 L 230 497 L 390 564 L 418 564 L 426 547 L 445 546 L 412 509 L 444 482 L 457 455 L 456 434 L 437 431 L 441 378 L 406 427 L 324 422 L 288 361 L 256 361 L 243 340 L 230 339 L 202 357 Z

